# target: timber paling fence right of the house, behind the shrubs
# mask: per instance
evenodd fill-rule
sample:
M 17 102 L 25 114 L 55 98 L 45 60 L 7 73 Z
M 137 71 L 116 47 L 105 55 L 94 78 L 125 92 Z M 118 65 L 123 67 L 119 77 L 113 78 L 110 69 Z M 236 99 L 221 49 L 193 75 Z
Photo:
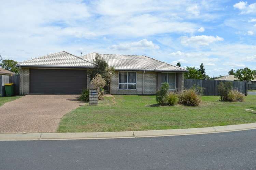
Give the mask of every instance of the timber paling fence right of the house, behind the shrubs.
M 184 79 L 184 88 L 190 89 L 194 85 L 202 87 L 203 95 L 206 96 L 218 96 L 218 85 L 220 82 L 232 82 L 233 88 L 237 89 L 239 92 L 246 94 L 247 82 L 240 81 L 227 81 L 227 80 L 198 80 L 198 79 Z

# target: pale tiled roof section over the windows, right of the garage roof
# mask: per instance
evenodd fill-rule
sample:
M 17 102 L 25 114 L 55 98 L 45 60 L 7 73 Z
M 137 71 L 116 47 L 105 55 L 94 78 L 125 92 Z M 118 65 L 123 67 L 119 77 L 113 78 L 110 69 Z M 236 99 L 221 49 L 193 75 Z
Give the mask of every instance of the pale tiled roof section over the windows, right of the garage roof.
M 93 62 L 97 53 L 90 53 L 81 58 Z M 144 55 L 99 54 L 115 70 L 146 70 L 146 71 L 187 71 Z

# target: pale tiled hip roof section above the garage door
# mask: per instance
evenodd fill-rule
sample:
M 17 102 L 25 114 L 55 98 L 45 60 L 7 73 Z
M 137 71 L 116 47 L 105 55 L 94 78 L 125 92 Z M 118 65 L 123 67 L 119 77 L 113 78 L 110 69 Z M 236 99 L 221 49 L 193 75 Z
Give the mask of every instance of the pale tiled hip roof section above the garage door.
M 34 58 L 32 60 L 19 62 L 17 66 L 94 67 L 94 64 L 66 51 L 61 51 L 58 53 Z

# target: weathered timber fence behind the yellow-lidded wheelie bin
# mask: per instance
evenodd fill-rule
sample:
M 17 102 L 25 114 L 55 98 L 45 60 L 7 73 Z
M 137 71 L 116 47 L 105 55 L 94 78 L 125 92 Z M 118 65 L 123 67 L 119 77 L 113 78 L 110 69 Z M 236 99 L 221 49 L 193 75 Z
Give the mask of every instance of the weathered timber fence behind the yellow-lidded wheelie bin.
M 14 83 L 14 95 L 19 95 L 19 75 L 0 75 L 0 97 L 6 96 L 4 84 Z

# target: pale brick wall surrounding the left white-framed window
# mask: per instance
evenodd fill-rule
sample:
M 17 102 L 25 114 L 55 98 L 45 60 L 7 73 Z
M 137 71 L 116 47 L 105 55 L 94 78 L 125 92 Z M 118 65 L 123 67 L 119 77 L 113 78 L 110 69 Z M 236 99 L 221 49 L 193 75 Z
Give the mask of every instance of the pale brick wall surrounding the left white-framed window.
M 119 89 L 119 71 L 115 71 L 110 81 L 110 93 L 111 94 L 155 94 L 156 93 L 156 73 L 146 72 L 144 73 L 144 90 L 143 84 L 143 72 L 136 72 L 136 89 Z M 143 93 L 144 91 L 144 93 Z

